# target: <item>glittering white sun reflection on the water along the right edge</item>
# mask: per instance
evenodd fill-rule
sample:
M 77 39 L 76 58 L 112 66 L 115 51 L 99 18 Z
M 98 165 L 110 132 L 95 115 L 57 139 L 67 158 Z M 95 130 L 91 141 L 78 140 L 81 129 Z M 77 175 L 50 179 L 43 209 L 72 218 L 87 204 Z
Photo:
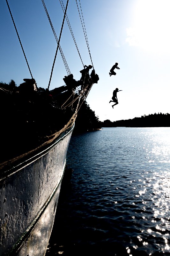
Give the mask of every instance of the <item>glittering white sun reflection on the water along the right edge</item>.
M 137 239 L 143 243 L 144 247 L 149 246 L 148 239 L 155 239 L 155 246 L 159 252 L 169 253 L 170 168 L 167 164 L 170 163 L 170 132 L 168 130 L 168 133 L 164 133 L 161 132 L 161 129 L 157 129 L 155 134 L 155 130 L 153 132 L 150 130 L 148 133 L 145 132 L 143 141 L 143 150 L 152 170 L 144 170 L 143 180 L 138 179 L 138 182 L 141 182 L 142 185 L 136 197 L 144 198 L 142 199 L 144 200 L 143 204 L 146 205 L 146 207 L 143 207 L 144 212 L 147 212 L 148 202 L 151 200 L 150 209 L 152 209 L 153 215 L 151 217 L 151 215 L 145 214 L 142 217 L 150 227 L 141 230 L 143 235 L 137 236 Z M 152 253 L 149 255 L 152 255 Z

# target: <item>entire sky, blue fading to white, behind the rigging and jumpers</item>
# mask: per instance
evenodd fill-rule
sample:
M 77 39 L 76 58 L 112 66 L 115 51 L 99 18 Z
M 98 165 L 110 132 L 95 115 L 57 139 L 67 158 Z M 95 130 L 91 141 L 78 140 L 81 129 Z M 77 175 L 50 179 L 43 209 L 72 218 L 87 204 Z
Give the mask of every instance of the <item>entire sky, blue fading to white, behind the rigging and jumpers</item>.
M 79 3 L 79 0 L 77 0 Z M 39 87 L 48 87 L 56 41 L 41 0 L 8 0 L 26 57 Z M 66 5 L 66 0 L 63 0 Z M 81 0 L 92 62 L 99 75 L 87 103 L 100 121 L 170 113 L 170 0 Z M 45 0 L 59 38 L 63 11 L 58 0 Z M 5 0 L 0 1 L 0 81 L 17 85 L 31 78 Z M 83 63 L 91 64 L 75 0 L 67 12 Z M 83 68 L 67 22 L 60 42 L 76 80 Z M 118 62 L 120 70 L 109 76 Z M 50 89 L 64 85 L 67 75 L 57 54 Z M 119 104 L 112 108 L 113 90 Z

